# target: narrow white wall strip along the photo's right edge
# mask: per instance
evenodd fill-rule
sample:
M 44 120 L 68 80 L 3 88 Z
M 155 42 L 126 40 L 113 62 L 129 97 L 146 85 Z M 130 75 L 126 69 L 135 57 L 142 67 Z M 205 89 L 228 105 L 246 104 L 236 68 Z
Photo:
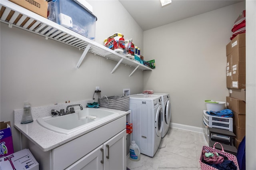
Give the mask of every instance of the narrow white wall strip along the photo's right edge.
M 246 169 L 256 167 L 256 1 L 246 1 Z

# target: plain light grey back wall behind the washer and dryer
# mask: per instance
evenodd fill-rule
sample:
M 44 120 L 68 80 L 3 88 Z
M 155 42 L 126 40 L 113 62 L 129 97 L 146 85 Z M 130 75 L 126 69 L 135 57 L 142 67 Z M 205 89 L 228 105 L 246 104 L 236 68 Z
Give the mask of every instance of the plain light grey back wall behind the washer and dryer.
M 245 2 L 144 31 L 144 89 L 170 93 L 171 122 L 202 127 L 204 100 L 226 101 L 226 45 Z M 171 16 L 170 16 L 171 17 Z

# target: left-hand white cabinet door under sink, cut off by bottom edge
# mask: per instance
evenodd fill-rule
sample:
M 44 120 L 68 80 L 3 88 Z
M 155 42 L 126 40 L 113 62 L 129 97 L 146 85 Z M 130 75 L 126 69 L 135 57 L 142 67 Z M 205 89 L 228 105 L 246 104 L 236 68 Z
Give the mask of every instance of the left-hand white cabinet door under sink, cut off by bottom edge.
M 66 170 L 103 170 L 103 148 L 102 145 L 76 161 Z

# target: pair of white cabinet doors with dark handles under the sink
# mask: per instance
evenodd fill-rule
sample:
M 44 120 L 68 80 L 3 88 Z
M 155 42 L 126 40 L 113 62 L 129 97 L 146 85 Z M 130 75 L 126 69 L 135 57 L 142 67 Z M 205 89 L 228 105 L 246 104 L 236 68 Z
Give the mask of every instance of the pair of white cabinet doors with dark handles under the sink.
M 124 170 L 126 168 L 126 130 L 99 146 L 66 170 Z

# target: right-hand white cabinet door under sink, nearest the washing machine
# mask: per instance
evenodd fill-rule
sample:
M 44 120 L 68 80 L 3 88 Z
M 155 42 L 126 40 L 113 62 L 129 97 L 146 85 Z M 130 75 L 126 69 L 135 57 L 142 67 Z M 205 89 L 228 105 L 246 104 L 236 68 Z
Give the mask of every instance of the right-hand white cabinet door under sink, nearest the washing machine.
M 104 170 L 126 170 L 126 129 L 103 144 Z

